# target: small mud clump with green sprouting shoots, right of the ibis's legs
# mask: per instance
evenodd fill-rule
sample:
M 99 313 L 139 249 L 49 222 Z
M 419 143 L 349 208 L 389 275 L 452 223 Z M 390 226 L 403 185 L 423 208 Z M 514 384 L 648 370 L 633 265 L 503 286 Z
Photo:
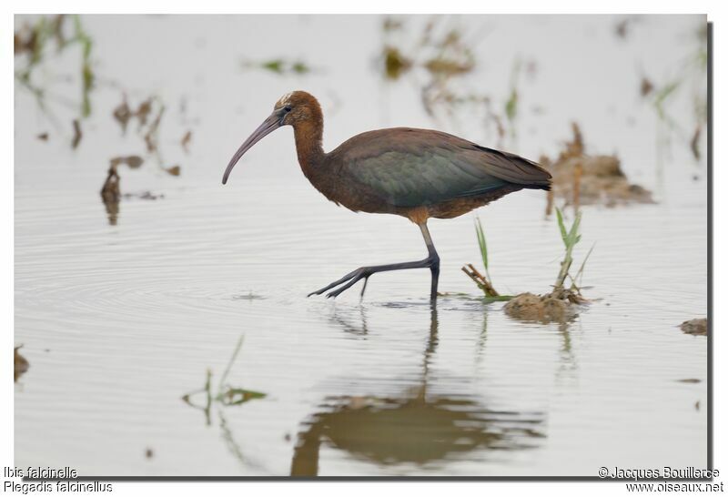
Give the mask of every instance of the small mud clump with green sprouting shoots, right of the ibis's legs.
M 576 217 L 571 223 L 571 228 L 566 228 L 563 215 L 560 209 L 556 209 L 559 231 L 561 240 L 564 244 L 564 258 L 561 261 L 559 275 L 551 292 L 544 295 L 534 295 L 532 293 L 521 293 L 503 307 L 503 310 L 518 320 L 540 321 L 540 322 L 566 322 L 574 319 L 578 315 L 578 311 L 574 306 L 589 303 L 581 295 L 581 278 L 583 277 L 586 261 L 591 255 L 591 249 L 587 252 L 586 257 L 581 262 L 581 267 L 576 276 L 571 276 L 571 264 L 573 263 L 572 252 L 577 243 L 581 240 L 579 228 L 581 226 L 581 212 L 577 212 Z M 567 286 L 566 280 L 570 283 Z

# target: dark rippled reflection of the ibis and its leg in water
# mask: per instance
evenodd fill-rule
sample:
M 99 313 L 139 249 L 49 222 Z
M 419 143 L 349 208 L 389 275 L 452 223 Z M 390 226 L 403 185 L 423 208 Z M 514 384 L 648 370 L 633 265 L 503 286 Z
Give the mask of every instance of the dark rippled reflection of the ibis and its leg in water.
M 470 451 L 535 446 L 544 436 L 540 412 L 492 411 L 474 397 L 428 394 L 430 361 L 437 346 L 438 314 L 432 305 L 420 385 L 398 397 L 327 398 L 298 433 L 291 476 L 318 475 L 322 445 L 379 465 L 420 466 Z

